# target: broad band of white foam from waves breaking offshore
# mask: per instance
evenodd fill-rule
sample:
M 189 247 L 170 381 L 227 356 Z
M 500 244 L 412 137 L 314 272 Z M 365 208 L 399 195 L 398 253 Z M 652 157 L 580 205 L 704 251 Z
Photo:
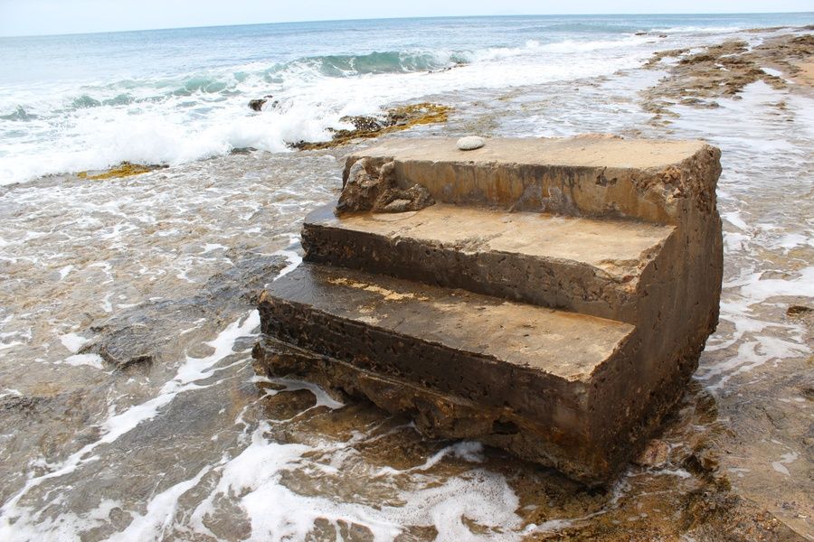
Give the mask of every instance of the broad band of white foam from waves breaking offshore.
M 429 51 L 426 54 L 439 66 L 450 65 L 453 59 L 468 62 L 436 73 L 395 70 L 331 77 L 312 61 L 293 61 L 275 73 L 277 82 L 271 85 L 263 70 L 235 79 L 234 72 L 247 68 L 237 66 L 215 70 L 209 76 L 221 81 L 228 94 L 201 89 L 166 94 L 161 88 L 167 84 L 165 79 L 143 79 L 135 88 L 132 81 L 95 83 L 83 90 L 93 95 L 92 103 L 97 105 L 92 107 L 71 105 L 77 89 L 63 83 L 6 89 L 0 93 L 0 106 L 14 104 L 6 107 L 24 107 L 37 117 L 5 121 L 8 133 L 24 129 L 28 136 L 0 138 L 5 140 L 0 143 L 0 184 L 48 173 L 103 169 L 122 161 L 184 164 L 233 148 L 284 152 L 288 143 L 329 138 L 328 128 L 343 126 L 341 117 L 376 114 L 395 102 L 462 89 L 594 77 L 631 68 L 647 56 L 647 47 L 639 49 L 646 42 L 645 37 L 622 36 L 544 44 L 531 40 L 514 48 Z M 546 61 L 541 62 L 541 56 Z M 269 92 L 277 107 L 268 106 L 260 114 L 247 107 L 249 99 Z M 116 101 L 122 93 L 132 99 Z M 9 113 L 0 110 L 0 114 L 4 112 Z

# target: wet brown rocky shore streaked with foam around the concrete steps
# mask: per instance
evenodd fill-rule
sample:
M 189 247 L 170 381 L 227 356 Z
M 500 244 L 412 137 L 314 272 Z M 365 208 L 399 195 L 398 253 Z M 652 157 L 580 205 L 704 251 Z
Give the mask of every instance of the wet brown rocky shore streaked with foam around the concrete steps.
M 410 118 L 438 124 L 383 112 L 305 153 L 0 189 L 0 537 L 814 538 L 811 36 L 707 35 L 643 71 L 432 96 L 449 107 Z M 300 220 L 336 201 L 345 155 L 429 131 L 722 149 L 721 321 L 613 486 L 251 369 L 251 307 L 298 263 Z

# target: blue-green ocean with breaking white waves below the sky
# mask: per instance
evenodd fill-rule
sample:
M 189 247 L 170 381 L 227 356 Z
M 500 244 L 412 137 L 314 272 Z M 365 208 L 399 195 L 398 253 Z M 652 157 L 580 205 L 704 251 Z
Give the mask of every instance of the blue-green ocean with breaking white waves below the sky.
M 608 76 L 658 49 L 805 20 L 460 17 L 0 38 L 0 183 L 122 161 L 184 164 L 234 148 L 284 152 L 328 139 L 346 115 Z M 249 100 L 266 95 L 278 107 L 252 112 Z

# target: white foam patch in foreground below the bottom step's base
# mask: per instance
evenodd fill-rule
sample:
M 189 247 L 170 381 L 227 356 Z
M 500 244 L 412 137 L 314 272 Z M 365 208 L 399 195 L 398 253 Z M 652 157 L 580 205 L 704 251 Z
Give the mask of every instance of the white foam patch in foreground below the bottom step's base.
M 368 528 L 374 540 L 392 540 L 404 525 L 435 526 L 440 540 L 478 536 L 462 521 L 464 517 L 480 525 L 504 530 L 501 539 L 519 538 L 510 529 L 520 525 L 514 510 L 518 500 L 503 477 L 475 469 L 439 485 L 415 491 L 402 491 L 401 506 L 370 506 L 337 502 L 327 497 L 302 495 L 281 483 L 281 475 L 298 467 L 323 468 L 312 463 L 305 444 L 279 444 L 264 434 L 270 426 L 263 422 L 239 455 L 226 462 L 212 493 L 194 510 L 190 523 L 204 534 L 205 519 L 216 513 L 219 497 L 237 496 L 241 509 L 251 521 L 251 540 L 301 540 L 308 536 L 317 519 L 337 526 L 340 521 Z M 270 506 L 273 503 L 273 506 Z

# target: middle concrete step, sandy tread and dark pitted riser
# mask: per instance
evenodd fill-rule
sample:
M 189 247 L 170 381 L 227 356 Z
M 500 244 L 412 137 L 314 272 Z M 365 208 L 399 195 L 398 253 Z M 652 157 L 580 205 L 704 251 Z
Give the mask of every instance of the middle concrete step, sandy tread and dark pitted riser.
M 636 323 L 639 279 L 674 227 L 436 204 L 305 221 L 311 262 Z M 652 275 L 652 273 L 650 274 Z

